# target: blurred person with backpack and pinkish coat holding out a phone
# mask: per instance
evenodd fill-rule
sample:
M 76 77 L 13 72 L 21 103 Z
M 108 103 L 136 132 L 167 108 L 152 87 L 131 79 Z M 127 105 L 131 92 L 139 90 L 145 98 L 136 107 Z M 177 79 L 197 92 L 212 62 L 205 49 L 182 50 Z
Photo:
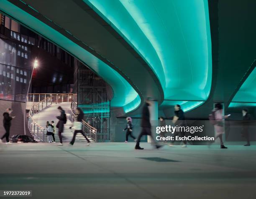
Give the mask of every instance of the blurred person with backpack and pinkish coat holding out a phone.
M 215 131 L 217 133 L 215 140 L 217 138 L 220 139 L 220 149 L 228 149 L 228 147 L 225 147 L 223 144 L 222 134 L 224 134 L 223 119 L 228 118 L 230 115 L 223 117 L 222 111 L 223 111 L 223 105 L 221 103 L 215 103 L 214 109 L 212 111 L 212 114 L 210 114 L 209 119 L 211 123 L 214 125 Z

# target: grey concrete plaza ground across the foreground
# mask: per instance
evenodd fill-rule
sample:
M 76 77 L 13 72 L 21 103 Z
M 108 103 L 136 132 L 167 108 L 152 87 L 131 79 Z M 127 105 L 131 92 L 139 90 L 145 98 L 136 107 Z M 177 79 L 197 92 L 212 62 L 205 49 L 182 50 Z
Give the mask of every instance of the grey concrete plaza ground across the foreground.
M 36 199 L 256 198 L 256 146 L 141 146 L 1 144 L 0 190 Z

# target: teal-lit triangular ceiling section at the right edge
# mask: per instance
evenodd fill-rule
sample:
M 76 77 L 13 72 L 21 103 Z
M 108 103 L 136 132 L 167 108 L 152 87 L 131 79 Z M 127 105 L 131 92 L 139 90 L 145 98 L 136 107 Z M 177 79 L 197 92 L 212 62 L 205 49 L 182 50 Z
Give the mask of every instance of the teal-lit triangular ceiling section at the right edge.
M 256 68 L 239 88 L 232 102 L 256 102 Z M 231 103 L 230 105 L 231 106 Z

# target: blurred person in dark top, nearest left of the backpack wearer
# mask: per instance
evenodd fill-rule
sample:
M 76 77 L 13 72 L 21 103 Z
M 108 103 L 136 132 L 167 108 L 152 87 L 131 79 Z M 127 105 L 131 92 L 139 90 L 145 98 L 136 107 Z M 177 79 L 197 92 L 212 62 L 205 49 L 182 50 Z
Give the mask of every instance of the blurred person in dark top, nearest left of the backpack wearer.
M 176 104 L 174 106 L 174 117 L 173 117 L 172 123 L 176 124 L 177 126 L 186 126 L 184 112 L 182 111 L 182 108 L 179 104 Z M 185 132 L 175 131 L 173 134 L 174 140 L 172 140 L 172 143 L 169 146 L 174 146 L 175 138 L 177 135 L 179 135 L 179 133 L 181 134 L 182 137 L 185 136 Z M 182 147 L 187 147 L 187 140 L 185 140 L 185 139 L 183 140 Z

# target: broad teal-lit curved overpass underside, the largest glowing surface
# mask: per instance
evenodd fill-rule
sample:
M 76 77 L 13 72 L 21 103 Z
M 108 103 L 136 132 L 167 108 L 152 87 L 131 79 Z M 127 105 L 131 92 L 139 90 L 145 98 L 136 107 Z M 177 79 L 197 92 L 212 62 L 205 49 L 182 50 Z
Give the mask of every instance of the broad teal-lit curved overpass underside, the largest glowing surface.
M 207 100 L 212 81 L 207 0 L 84 0 L 141 55 L 164 99 Z M 171 104 L 170 104 L 171 105 Z M 197 102 L 189 102 L 195 108 Z

